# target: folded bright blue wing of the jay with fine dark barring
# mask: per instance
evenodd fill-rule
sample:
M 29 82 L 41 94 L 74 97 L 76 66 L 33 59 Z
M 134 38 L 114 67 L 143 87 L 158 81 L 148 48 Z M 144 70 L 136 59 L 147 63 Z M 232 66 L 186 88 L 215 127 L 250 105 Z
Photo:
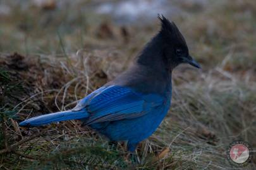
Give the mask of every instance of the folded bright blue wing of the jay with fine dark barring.
M 74 108 L 87 109 L 90 116 L 85 125 L 137 118 L 164 103 L 164 98 L 158 94 L 140 94 L 121 86 L 102 87 L 90 95 Z

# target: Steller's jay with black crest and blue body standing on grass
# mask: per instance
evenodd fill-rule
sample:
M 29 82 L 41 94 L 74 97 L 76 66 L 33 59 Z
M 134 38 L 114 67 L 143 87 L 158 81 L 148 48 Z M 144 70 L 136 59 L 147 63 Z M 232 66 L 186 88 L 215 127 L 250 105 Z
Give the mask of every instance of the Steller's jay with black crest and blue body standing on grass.
M 173 69 L 181 63 L 200 68 L 173 21 L 162 15 L 158 18 L 161 30 L 130 69 L 80 100 L 72 110 L 36 116 L 20 126 L 78 119 L 111 141 L 127 141 L 127 149 L 133 152 L 155 132 L 171 106 Z

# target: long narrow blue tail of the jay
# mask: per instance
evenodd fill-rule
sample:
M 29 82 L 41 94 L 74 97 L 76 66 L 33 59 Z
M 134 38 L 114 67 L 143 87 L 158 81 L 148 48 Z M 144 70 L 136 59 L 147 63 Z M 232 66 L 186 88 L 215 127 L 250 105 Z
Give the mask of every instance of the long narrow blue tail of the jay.
M 40 125 L 46 125 L 52 122 L 60 122 L 64 120 L 75 120 L 87 118 L 89 114 L 86 110 L 79 111 L 59 111 L 56 113 L 50 113 L 47 115 L 36 116 L 28 120 L 24 120 L 20 123 L 21 127 L 37 127 Z

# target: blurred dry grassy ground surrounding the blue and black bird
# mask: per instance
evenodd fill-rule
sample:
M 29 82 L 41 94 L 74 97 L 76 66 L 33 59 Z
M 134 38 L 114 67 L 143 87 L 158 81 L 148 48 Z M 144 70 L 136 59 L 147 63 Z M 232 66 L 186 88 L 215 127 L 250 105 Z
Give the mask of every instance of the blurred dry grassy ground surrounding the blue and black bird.
M 158 13 L 202 70 L 173 72 L 172 108 L 138 162 L 79 121 L 18 127 L 72 108 L 124 71 L 159 31 Z M 234 169 L 231 142 L 256 148 L 255 39 L 253 0 L 0 0 L 0 169 Z

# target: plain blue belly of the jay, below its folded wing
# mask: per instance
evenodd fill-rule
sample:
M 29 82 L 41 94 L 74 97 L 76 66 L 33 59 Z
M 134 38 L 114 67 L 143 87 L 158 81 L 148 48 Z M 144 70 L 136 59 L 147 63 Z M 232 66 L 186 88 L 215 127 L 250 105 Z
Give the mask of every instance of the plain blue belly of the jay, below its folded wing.
M 169 106 L 159 106 L 139 118 L 109 122 L 100 132 L 113 141 L 136 140 L 140 142 L 155 132 L 168 110 Z

